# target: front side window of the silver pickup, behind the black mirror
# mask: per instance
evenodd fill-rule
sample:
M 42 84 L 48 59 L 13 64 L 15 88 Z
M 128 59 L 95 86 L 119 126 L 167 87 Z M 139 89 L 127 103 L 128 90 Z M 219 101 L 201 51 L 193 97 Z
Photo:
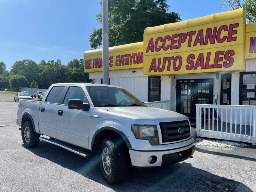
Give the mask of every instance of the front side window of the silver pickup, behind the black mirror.
M 68 105 L 68 100 L 70 100 L 70 99 L 80 99 L 80 100 L 84 101 L 85 93 L 84 93 L 83 89 L 81 87 L 70 86 L 68 88 L 68 92 L 67 92 L 67 94 L 65 96 L 63 104 L 64 105 Z M 87 99 L 86 99 L 85 102 L 88 103 Z

